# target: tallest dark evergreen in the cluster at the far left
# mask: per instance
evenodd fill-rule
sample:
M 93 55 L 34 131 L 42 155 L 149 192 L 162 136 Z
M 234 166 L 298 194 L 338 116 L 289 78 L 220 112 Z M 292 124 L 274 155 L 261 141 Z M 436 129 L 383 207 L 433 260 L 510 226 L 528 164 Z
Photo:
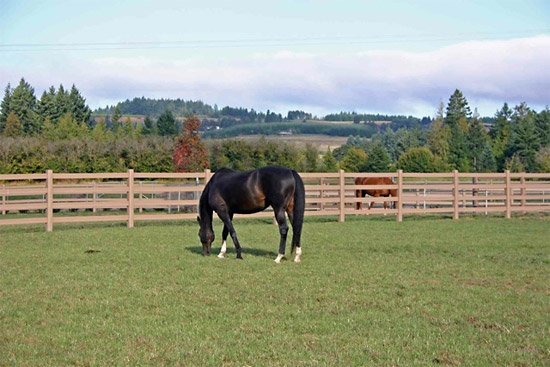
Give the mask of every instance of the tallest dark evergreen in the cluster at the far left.
M 21 78 L 19 85 L 15 87 L 10 99 L 10 110 L 15 113 L 23 125 L 23 132 L 35 135 L 40 132 L 41 126 L 35 113 L 36 97 L 34 88 Z

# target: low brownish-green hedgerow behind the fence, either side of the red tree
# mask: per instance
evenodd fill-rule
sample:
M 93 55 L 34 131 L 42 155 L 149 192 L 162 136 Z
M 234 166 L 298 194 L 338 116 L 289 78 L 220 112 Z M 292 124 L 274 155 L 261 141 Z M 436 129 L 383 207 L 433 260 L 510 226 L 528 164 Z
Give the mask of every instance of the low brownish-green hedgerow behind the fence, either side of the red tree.
M 63 173 L 174 172 L 178 170 L 178 144 L 172 137 L 134 137 L 116 141 L 73 136 L 56 140 L 43 137 L 0 136 L 0 174 L 37 173 L 52 169 Z M 181 144 L 180 144 L 181 145 Z M 305 171 L 336 171 L 338 162 L 325 153 L 327 164 L 311 145 L 240 140 L 207 141 L 207 166 L 247 170 L 276 164 Z M 193 157 L 183 150 L 183 158 Z M 182 158 L 182 152 L 179 153 Z M 191 163 L 189 167 L 198 165 Z M 203 165 L 204 166 L 204 165 Z

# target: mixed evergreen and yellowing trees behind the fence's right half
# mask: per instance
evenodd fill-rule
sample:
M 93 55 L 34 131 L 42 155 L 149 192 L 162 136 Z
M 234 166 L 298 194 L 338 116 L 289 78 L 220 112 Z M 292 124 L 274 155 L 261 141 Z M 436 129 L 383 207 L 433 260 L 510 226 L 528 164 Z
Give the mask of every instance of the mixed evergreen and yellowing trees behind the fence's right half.
M 456 90 L 429 130 L 388 129 L 372 140 L 350 138 L 334 155 L 349 171 L 550 172 L 550 110 L 505 103 L 487 131 Z

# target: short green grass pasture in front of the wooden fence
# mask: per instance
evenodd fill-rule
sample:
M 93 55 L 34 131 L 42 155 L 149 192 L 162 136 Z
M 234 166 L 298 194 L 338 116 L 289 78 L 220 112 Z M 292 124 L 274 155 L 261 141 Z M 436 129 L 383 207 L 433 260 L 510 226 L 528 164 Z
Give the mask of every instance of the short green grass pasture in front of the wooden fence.
M 216 223 L 215 251 L 221 242 Z M 0 228 L 0 366 L 548 366 L 548 217 Z

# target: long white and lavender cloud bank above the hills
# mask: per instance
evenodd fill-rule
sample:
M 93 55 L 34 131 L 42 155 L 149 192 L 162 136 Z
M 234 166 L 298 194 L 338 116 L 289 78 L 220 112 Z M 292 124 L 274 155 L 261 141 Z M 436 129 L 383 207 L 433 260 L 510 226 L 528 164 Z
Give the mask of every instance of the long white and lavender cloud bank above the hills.
M 42 64 L 35 76 L 43 88 L 72 80 L 94 107 L 143 95 L 279 112 L 301 108 L 433 115 L 440 100 L 458 88 L 472 107 L 492 115 L 505 101 L 526 101 L 535 108 L 550 103 L 548 50 L 550 36 L 538 36 L 459 43 L 421 53 L 278 52 L 225 60 L 96 57 L 69 59 L 61 66 Z M 33 84 L 31 76 L 27 79 Z

